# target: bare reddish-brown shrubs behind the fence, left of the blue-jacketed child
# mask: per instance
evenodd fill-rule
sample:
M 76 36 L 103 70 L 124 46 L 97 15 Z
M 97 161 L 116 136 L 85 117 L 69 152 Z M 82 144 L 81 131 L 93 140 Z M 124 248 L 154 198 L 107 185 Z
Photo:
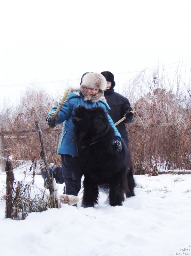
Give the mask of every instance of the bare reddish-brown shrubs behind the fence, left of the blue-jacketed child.
M 20 102 L 12 108 L 3 111 L 4 130 L 12 131 L 13 134 L 5 136 L 6 153 L 18 160 L 40 159 L 41 146 L 39 133 L 36 130 L 37 121 L 42 131 L 47 128 L 45 118 L 52 106 L 57 101 L 52 99 L 42 89 L 27 88 L 20 97 Z M 23 132 L 27 131 L 27 132 Z M 44 130 L 44 147 L 48 163 L 60 164 L 60 156 L 57 154 L 60 131 L 48 132 Z

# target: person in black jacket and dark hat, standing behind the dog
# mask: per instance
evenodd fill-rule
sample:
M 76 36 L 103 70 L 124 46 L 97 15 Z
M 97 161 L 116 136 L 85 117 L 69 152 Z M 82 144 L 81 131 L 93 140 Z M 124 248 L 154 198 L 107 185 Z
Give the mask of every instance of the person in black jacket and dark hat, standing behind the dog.
M 128 145 L 129 139 L 125 124 L 129 124 L 134 120 L 134 115 L 131 112 L 131 105 L 127 98 L 114 91 L 114 75 L 109 71 L 103 71 L 101 72 L 101 74 L 107 80 L 107 88 L 104 91 L 104 96 L 107 100 L 107 104 L 111 108 L 111 110 L 109 110 L 109 116 L 111 116 L 114 123 L 123 118 L 123 116 L 126 116 L 126 119 L 118 124 L 116 127 L 117 130 L 120 132 L 122 139 L 124 139 Z

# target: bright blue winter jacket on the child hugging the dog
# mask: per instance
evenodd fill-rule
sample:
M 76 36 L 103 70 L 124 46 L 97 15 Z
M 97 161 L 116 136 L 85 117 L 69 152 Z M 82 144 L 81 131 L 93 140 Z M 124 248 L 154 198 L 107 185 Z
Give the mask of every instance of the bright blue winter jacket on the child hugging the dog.
M 48 116 L 54 114 L 58 105 L 59 104 L 57 104 L 55 107 L 51 109 Z M 62 107 L 60 108 L 60 111 L 57 116 L 58 120 L 56 121 L 56 125 L 64 122 L 62 127 L 62 133 L 60 136 L 59 146 L 57 150 L 58 154 L 66 154 L 71 156 L 76 156 L 77 154 L 77 145 L 76 143 L 73 142 L 74 124 L 72 122 L 72 115 L 74 115 L 74 109 L 79 105 L 84 106 L 86 108 L 102 107 L 107 113 L 107 115 L 108 115 L 108 109 L 110 109 L 107 102 L 104 100 L 99 100 L 97 102 L 84 101 L 84 98 L 80 95 L 80 92 L 78 92 L 77 94 L 74 92 L 70 92 L 68 95 L 68 100 L 65 101 Z M 47 117 L 46 117 L 46 120 L 47 120 Z M 109 115 L 108 115 L 108 120 L 109 120 L 109 123 L 114 128 L 116 138 L 121 140 L 121 135 L 118 132 L 113 120 Z

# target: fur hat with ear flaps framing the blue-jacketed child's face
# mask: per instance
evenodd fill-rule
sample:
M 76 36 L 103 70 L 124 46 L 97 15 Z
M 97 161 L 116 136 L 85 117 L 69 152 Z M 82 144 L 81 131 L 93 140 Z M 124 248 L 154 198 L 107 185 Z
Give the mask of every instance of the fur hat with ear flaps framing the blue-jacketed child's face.
M 88 88 L 98 87 L 99 92 L 95 96 L 90 96 Z M 103 97 L 103 91 L 107 87 L 107 81 L 104 76 L 98 73 L 87 73 L 82 77 L 82 84 L 80 85 L 80 91 L 84 96 L 84 100 L 90 100 L 97 102 L 100 97 Z

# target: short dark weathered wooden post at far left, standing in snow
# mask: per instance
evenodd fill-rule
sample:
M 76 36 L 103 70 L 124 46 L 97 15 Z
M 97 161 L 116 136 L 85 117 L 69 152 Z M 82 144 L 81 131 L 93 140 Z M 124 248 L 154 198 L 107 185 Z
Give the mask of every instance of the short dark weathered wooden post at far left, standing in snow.
M 14 182 L 14 173 L 12 171 L 12 164 L 9 158 L 6 160 L 5 172 L 7 174 L 6 179 L 6 203 L 5 203 L 5 218 L 12 218 L 12 191 Z

